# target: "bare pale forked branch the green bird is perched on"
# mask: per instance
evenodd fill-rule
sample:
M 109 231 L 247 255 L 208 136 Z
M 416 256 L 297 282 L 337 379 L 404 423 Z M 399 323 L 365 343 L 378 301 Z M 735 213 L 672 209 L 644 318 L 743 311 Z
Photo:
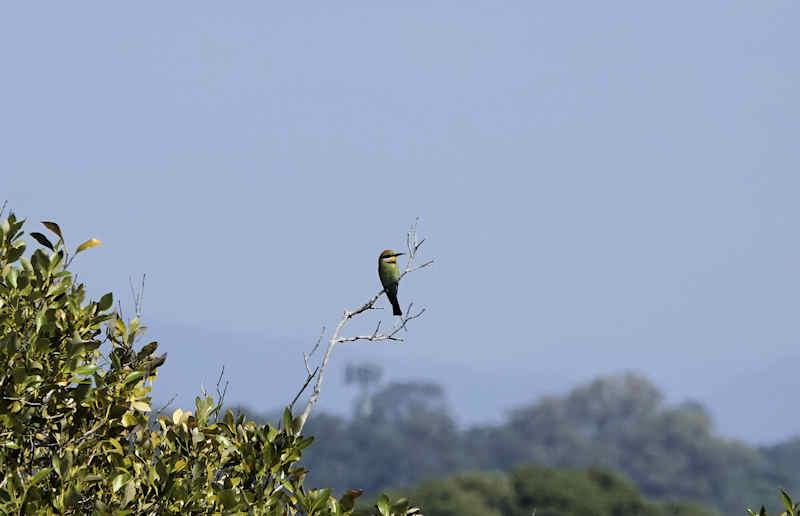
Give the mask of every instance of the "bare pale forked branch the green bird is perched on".
M 398 279 L 398 282 L 400 280 L 402 280 L 405 277 L 406 274 L 409 274 L 409 273 L 414 272 L 416 270 L 422 269 L 424 267 L 428 267 L 428 266 L 433 264 L 433 260 L 429 260 L 429 261 L 427 261 L 427 262 L 425 262 L 425 263 L 423 263 L 421 265 L 414 265 L 414 260 L 417 257 L 417 253 L 419 252 L 419 248 L 422 246 L 423 242 L 425 242 L 424 238 L 422 240 L 418 240 L 417 239 L 417 223 L 418 222 L 419 222 L 419 218 L 417 218 L 414 221 L 414 223 L 411 225 L 411 228 L 408 230 L 408 233 L 406 233 L 406 247 L 408 248 L 408 253 L 407 253 L 408 254 L 408 262 L 406 263 L 406 268 L 400 274 L 400 278 Z M 314 348 L 312 349 L 311 353 L 309 353 L 308 355 L 306 355 L 306 354 L 303 355 L 303 359 L 304 359 L 305 364 L 306 364 L 306 372 L 308 373 L 308 375 L 306 376 L 306 381 L 304 382 L 303 386 L 301 387 L 300 392 L 298 392 L 297 396 L 295 396 L 295 398 L 292 400 L 292 403 L 289 405 L 289 408 L 291 409 L 294 406 L 294 403 L 298 400 L 300 395 L 305 391 L 305 389 L 308 387 L 309 383 L 311 382 L 311 380 L 315 376 L 316 376 L 316 382 L 314 383 L 314 388 L 311 391 L 311 395 L 308 397 L 308 401 L 306 402 L 306 406 L 303 409 L 303 412 L 299 416 L 299 421 L 298 421 L 298 425 L 297 425 L 297 432 L 302 431 L 303 426 L 305 425 L 306 421 L 308 420 L 308 417 L 311 415 L 311 411 L 314 409 L 314 406 L 317 404 L 317 401 L 319 401 L 319 396 L 320 396 L 320 393 L 322 391 L 322 382 L 323 382 L 323 380 L 325 378 L 325 370 L 328 367 L 328 362 L 330 361 L 330 358 L 331 358 L 331 355 L 333 353 L 333 350 L 336 348 L 337 344 L 340 344 L 342 342 L 356 342 L 356 341 L 371 341 L 371 342 L 376 342 L 376 341 L 402 341 L 403 339 L 400 338 L 400 337 L 397 337 L 397 334 L 400 331 L 406 330 L 406 327 L 407 327 L 407 325 L 408 325 L 408 323 L 410 321 L 413 321 L 414 319 L 422 316 L 422 314 L 425 313 L 425 309 L 424 308 L 419 310 L 419 311 L 417 311 L 417 312 L 413 312 L 411 310 L 412 307 L 413 307 L 413 304 L 410 304 L 408 306 L 408 310 L 406 310 L 405 315 L 401 317 L 399 324 L 397 326 L 395 326 L 395 328 L 392 329 L 392 331 L 390 331 L 390 332 L 381 333 L 381 331 L 380 331 L 381 330 L 381 323 L 378 322 L 375 325 L 375 330 L 373 330 L 373 332 L 371 334 L 369 334 L 369 335 L 356 335 L 356 336 L 351 336 L 351 337 L 343 337 L 342 336 L 342 330 L 344 330 L 345 326 L 347 325 L 348 322 L 350 322 L 351 319 L 363 314 L 364 312 L 367 312 L 367 311 L 370 311 L 370 310 L 379 309 L 379 307 L 375 306 L 375 303 L 378 301 L 378 299 L 380 299 L 380 297 L 384 294 L 384 292 L 385 292 L 385 290 L 382 289 L 377 294 L 375 294 L 371 298 L 369 298 L 365 303 L 363 303 L 360 306 L 358 306 L 357 308 L 354 308 L 352 310 L 345 310 L 344 311 L 344 313 L 342 314 L 341 320 L 339 320 L 339 323 L 336 325 L 336 328 L 333 331 L 333 335 L 331 335 L 330 339 L 328 339 L 328 346 L 325 349 L 325 354 L 322 356 L 322 360 L 320 361 L 319 366 L 317 366 L 317 368 L 314 369 L 313 372 L 311 371 L 311 368 L 308 365 L 308 358 L 319 347 L 319 342 L 320 342 L 322 336 L 320 336 L 320 339 L 317 341 L 317 344 L 314 346 Z

